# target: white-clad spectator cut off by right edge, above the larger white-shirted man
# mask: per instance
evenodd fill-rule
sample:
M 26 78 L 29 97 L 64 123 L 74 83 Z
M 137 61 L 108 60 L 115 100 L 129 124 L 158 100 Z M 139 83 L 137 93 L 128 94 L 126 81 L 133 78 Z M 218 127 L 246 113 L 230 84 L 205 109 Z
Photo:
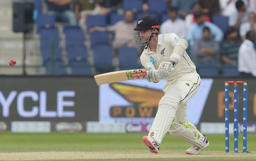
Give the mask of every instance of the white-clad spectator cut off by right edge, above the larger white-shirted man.
M 248 31 L 253 31 L 254 33 L 256 33 L 256 16 L 255 16 L 255 13 L 251 12 L 249 14 L 248 19 L 249 19 L 248 22 L 244 22 L 240 26 L 240 36 L 241 36 L 242 40 L 245 39 L 245 34 Z

